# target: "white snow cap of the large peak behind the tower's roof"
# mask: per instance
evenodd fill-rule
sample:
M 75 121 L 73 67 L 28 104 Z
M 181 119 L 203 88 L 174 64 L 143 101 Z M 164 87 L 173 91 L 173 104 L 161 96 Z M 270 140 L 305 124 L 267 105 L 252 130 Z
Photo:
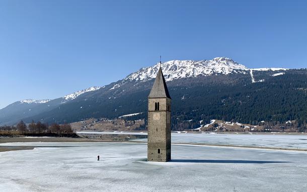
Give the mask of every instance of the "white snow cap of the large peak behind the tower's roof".
M 144 67 L 138 71 L 131 73 L 126 78 L 122 79 L 119 83 L 116 83 L 111 89 L 118 88 L 127 81 L 148 81 L 155 78 L 159 70 L 160 63 L 154 66 Z M 251 79 L 254 82 L 252 71 L 280 71 L 288 70 L 285 68 L 255 68 L 249 69 L 246 66 L 237 63 L 236 61 L 227 57 L 216 57 L 211 60 L 172 60 L 161 63 L 163 74 L 166 81 L 172 81 L 179 78 L 189 78 L 197 76 L 210 76 L 230 73 L 251 74 Z M 256 82 L 256 81 L 255 81 Z M 110 89 L 110 90 L 111 90 Z

